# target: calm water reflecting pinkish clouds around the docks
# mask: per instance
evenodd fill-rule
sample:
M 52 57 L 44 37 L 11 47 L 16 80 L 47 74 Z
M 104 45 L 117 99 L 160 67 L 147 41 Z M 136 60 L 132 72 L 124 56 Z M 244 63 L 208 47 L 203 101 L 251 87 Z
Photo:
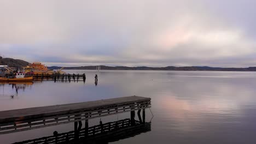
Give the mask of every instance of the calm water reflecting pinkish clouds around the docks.
M 86 82 L 0 84 L 0 111 L 138 95 L 152 98 L 151 131 L 113 143 L 255 143 L 256 73 L 219 71 L 66 70 Z M 95 86 L 94 75 L 98 74 Z M 14 99 L 10 95 L 15 95 Z M 130 113 L 102 117 L 103 122 Z M 136 116 L 137 118 L 137 116 Z M 146 121 L 152 115 L 146 110 Z M 99 119 L 89 121 L 98 124 Z M 84 125 L 83 125 L 84 126 Z M 0 135 L 12 143 L 73 130 L 73 124 Z

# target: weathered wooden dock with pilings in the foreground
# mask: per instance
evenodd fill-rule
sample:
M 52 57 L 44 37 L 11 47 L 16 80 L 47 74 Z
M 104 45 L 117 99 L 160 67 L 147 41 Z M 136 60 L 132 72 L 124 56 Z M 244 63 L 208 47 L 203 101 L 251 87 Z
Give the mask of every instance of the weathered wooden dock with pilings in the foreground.
M 88 119 L 131 112 L 131 124 L 135 123 L 135 111 L 151 107 L 151 99 L 144 97 L 123 97 L 105 100 L 88 101 L 84 103 L 32 107 L 28 109 L 0 111 L 0 134 L 50 127 L 65 123 L 74 123 L 75 130 L 88 127 Z M 79 128 L 77 127 L 79 123 Z

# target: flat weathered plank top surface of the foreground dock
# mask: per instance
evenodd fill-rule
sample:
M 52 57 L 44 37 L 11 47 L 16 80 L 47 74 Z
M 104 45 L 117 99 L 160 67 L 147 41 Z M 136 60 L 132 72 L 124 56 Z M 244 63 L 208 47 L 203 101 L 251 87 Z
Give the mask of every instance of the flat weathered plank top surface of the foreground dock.
M 59 115 L 59 114 L 65 115 L 65 114 L 77 112 L 77 111 L 100 109 L 102 107 L 118 106 L 122 104 L 138 103 L 141 101 L 149 101 L 149 100 L 150 98 L 131 96 L 131 97 L 88 101 L 84 103 L 42 106 L 42 107 L 32 107 L 27 109 L 0 111 L 0 123 L 8 122 L 8 121 L 17 121 L 17 120 L 19 121 L 21 119 L 27 119 L 27 118 L 53 116 L 53 115 Z

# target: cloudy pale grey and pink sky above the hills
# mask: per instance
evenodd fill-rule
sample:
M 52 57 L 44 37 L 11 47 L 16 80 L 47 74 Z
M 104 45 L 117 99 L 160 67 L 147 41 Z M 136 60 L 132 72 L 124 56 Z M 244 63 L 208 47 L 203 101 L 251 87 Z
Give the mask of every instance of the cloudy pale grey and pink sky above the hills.
M 0 55 L 48 66 L 256 66 L 255 0 L 0 0 Z

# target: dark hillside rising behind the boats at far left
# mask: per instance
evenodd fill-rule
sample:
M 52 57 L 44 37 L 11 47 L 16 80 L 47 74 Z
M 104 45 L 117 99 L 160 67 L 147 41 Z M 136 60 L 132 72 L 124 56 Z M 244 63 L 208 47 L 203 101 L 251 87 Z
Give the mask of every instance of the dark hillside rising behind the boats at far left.
M 3 58 L 0 56 L 0 65 L 8 65 L 9 67 L 22 68 L 26 67 L 29 63 L 21 59 Z

